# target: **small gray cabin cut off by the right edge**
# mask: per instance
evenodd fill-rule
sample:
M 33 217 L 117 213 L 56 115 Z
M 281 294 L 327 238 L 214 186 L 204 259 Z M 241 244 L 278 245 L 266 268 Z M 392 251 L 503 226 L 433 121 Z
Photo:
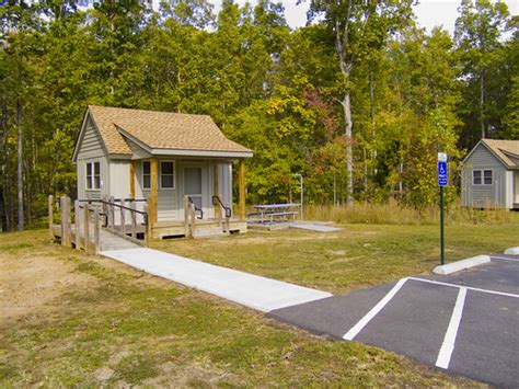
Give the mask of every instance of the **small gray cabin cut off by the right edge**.
M 462 162 L 461 201 L 466 207 L 519 209 L 519 140 L 480 140 Z

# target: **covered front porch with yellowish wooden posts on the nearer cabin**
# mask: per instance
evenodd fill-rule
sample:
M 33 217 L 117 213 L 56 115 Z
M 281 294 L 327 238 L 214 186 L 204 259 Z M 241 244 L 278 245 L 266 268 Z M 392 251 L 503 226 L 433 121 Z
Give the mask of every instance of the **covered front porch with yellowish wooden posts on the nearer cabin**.
M 246 232 L 245 162 L 238 164 L 238 211 L 232 209 L 229 159 L 150 156 L 129 165 L 130 198 L 145 198 L 151 239 Z

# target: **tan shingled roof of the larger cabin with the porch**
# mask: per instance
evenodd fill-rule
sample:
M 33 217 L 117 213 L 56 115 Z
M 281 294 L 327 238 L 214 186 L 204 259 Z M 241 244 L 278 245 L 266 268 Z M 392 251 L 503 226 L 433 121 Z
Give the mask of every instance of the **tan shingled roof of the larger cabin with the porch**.
M 108 155 L 132 153 L 129 139 L 152 155 L 192 152 L 252 157 L 252 151 L 221 133 L 208 115 L 89 105 Z

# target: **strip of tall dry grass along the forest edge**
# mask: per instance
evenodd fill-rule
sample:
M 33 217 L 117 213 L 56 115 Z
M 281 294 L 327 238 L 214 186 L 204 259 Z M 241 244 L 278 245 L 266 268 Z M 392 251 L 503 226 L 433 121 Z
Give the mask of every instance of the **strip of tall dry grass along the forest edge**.
M 384 204 L 357 203 L 353 206 L 308 205 L 305 220 L 334 221 L 338 224 L 373 225 L 435 225 L 439 222 L 438 206 L 417 209 L 391 201 Z M 496 225 L 519 222 L 519 214 L 505 209 L 473 209 L 460 204 L 446 207 L 446 222 L 449 225 Z

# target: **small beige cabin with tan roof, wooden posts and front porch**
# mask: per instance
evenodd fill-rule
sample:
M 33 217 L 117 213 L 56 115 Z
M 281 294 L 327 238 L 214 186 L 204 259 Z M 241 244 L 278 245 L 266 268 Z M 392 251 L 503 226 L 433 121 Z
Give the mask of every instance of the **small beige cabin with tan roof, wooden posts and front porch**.
M 90 105 L 73 151 L 78 199 L 138 202 L 147 208 L 152 238 L 183 236 L 186 202 L 200 225 L 232 209 L 238 161 L 239 215 L 227 216 L 230 232 L 244 232 L 244 160 L 252 156 L 207 115 Z

